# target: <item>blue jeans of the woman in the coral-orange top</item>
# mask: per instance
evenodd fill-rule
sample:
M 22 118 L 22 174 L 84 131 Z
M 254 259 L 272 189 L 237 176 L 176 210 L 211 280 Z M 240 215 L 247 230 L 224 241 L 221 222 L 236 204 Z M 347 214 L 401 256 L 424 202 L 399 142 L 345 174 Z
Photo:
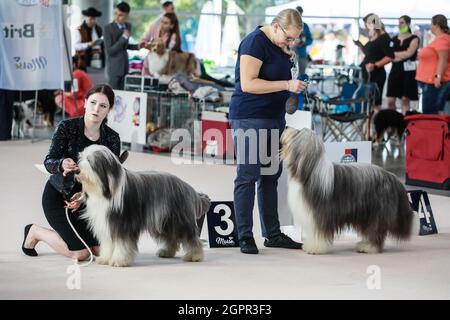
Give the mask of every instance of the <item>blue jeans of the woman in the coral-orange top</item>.
M 445 103 L 450 94 L 450 81 L 442 83 L 439 88 L 433 84 L 419 82 L 422 88 L 423 113 L 437 114 L 444 111 Z

